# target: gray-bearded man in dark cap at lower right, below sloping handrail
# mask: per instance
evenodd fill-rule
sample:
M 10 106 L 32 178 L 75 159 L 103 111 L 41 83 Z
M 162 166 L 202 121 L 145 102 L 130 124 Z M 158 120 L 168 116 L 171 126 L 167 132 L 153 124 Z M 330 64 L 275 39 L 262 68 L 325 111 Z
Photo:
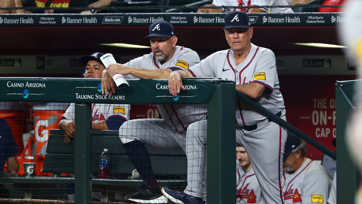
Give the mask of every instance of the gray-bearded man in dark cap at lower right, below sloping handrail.
M 327 204 L 331 179 L 322 165 L 305 156 L 306 151 L 306 142 L 288 132 L 282 177 L 285 204 Z

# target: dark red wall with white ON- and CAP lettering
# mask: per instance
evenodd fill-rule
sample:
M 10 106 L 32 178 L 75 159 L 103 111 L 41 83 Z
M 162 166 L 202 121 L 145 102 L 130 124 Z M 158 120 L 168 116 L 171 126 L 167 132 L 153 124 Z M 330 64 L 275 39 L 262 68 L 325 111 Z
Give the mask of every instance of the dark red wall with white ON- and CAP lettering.
M 279 75 L 287 122 L 332 151 L 336 147 L 336 81 L 353 75 Z M 308 158 L 321 160 L 323 153 L 307 143 Z

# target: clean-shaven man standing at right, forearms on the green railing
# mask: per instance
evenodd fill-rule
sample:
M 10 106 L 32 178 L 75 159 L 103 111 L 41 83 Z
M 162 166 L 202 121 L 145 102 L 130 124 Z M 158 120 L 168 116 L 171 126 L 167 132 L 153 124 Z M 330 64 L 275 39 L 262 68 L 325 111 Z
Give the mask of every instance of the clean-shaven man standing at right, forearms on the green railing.
M 252 44 L 253 32 L 249 16 L 245 12 L 227 13 L 224 35 L 231 49 L 213 53 L 188 70 L 172 72 L 168 82 L 170 93 L 177 96 L 180 90 L 185 90 L 182 86 L 184 77 L 233 80 L 237 91 L 286 120 L 274 53 Z M 235 107 L 236 143 L 241 144 L 248 152 L 260 183 L 264 203 L 283 204 L 281 176 L 287 131 L 240 99 L 236 100 Z M 196 141 L 206 143 L 206 135 L 199 137 L 200 139 Z M 201 150 L 195 150 L 198 151 Z M 192 154 L 193 152 L 190 152 L 190 155 L 186 152 L 187 158 L 192 157 Z M 203 172 L 195 174 L 203 175 Z M 166 195 L 165 197 L 180 197 L 167 188 L 163 188 L 162 193 Z

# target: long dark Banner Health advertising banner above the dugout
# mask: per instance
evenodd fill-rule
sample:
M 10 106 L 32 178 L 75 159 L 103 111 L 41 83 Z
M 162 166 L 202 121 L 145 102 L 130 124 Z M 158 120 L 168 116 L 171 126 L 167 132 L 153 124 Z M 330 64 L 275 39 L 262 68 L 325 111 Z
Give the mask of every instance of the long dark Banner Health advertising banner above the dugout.
M 334 26 L 346 22 L 341 13 L 250 13 L 252 26 Z M 0 15 L 1 26 L 148 26 L 157 21 L 173 25 L 224 26 L 225 13 L 107 13 Z

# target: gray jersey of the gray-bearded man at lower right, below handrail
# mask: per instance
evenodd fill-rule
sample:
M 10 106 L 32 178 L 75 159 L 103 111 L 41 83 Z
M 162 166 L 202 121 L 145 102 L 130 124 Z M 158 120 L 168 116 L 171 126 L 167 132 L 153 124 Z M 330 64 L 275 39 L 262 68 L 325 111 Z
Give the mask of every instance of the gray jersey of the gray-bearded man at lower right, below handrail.
M 283 197 L 285 204 L 327 204 L 330 178 L 325 168 L 311 159 L 289 175 L 283 172 Z

